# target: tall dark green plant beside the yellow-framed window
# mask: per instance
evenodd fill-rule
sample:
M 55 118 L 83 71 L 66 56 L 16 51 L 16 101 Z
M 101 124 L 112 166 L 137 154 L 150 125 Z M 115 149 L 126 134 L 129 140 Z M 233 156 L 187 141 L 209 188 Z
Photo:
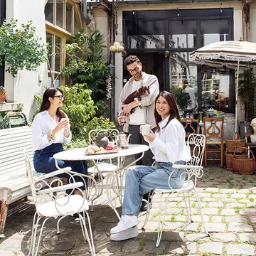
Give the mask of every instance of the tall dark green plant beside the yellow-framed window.
M 107 95 L 106 80 L 110 68 L 103 60 L 103 35 L 95 30 L 90 35 L 79 31 L 67 43 L 67 64 L 61 75 L 69 75 L 74 83 L 84 84 L 85 89 L 92 90 L 92 100 L 104 100 Z

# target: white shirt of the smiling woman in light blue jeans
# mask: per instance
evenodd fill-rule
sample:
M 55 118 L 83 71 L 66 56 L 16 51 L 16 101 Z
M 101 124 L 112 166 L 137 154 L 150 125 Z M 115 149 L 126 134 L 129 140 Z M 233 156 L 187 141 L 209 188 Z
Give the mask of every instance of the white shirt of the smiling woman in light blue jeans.
M 156 161 L 171 162 L 189 161 L 191 152 L 185 141 L 183 125 L 176 118 L 165 127 L 169 117 L 159 122 L 160 131 L 156 132 L 156 138 L 149 142 L 151 151 Z M 163 128 L 164 127 L 164 128 Z

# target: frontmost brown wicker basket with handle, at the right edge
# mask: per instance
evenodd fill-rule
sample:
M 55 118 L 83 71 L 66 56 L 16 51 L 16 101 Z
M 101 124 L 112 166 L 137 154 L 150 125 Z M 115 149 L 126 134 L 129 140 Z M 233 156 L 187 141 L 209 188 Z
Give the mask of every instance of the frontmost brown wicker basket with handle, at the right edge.
M 252 158 L 248 158 L 248 156 L 238 156 L 236 155 L 237 151 L 244 151 L 244 150 L 250 151 L 252 154 Z M 235 174 L 254 174 L 256 169 L 256 161 L 255 156 L 252 153 L 250 149 L 247 149 L 246 147 L 238 148 L 237 151 L 233 154 L 232 159 L 232 169 L 235 172 Z

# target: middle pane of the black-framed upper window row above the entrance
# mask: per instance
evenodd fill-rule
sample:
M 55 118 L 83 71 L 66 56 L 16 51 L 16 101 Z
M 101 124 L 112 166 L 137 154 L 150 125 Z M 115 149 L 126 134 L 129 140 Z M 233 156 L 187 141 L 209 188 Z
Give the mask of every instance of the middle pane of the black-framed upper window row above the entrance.
M 196 21 L 170 21 L 169 22 L 170 48 L 196 47 Z

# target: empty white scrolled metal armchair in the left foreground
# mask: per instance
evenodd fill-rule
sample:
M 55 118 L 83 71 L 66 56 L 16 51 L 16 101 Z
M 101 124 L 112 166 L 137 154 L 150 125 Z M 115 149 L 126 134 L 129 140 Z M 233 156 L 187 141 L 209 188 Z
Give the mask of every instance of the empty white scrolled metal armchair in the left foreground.
M 60 217 L 57 223 L 57 233 L 60 233 L 60 220 L 62 220 L 68 215 L 78 213 L 82 229 L 82 235 L 89 244 L 92 256 L 95 256 L 96 254 L 92 238 L 90 217 L 87 213 L 89 206 L 86 199 L 87 185 L 85 181 L 85 176 L 81 176 L 80 174 L 71 171 L 70 167 L 68 167 L 65 169 L 54 171 L 50 174 L 46 174 L 45 176 L 41 176 L 40 178 L 34 178 L 28 154 L 26 152 L 24 152 L 24 157 L 26 163 L 26 170 L 28 174 L 28 181 L 31 186 L 33 201 L 36 206 L 36 213 L 33 217 L 31 246 L 28 255 L 31 255 L 31 252 L 32 256 L 38 255 L 38 248 L 43 233 L 43 227 L 49 218 Z M 67 185 L 63 185 L 63 180 L 57 177 L 58 175 L 63 173 L 67 174 L 70 177 L 68 178 L 69 184 Z M 79 176 L 81 181 L 75 182 L 75 176 Z M 58 183 L 60 186 L 55 186 L 55 183 Z M 85 191 L 82 191 L 82 186 L 85 186 Z M 71 192 L 67 193 L 67 190 L 71 190 Z M 73 194 L 73 191 L 75 190 L 80 191 L 81 195 Z M 88 234 L 87 231 L 85 216 L 87 218 L 87 225 L 89 227 L 90 234 Z M 38 237 L 38 244 L 36 246 L 36 233 L 38 230 L 38 223 L 41 219 L 44 220 L 41 225 L 41 231 Z

